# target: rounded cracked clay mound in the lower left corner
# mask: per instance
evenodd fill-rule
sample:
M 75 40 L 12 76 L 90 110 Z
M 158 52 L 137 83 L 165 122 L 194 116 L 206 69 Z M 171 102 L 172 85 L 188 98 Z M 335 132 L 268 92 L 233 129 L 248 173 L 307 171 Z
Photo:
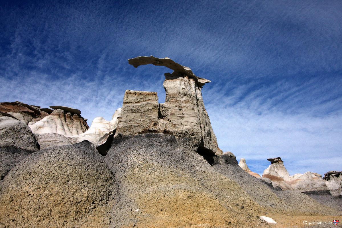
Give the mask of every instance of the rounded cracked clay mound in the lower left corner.
M 108 227 L 113 183 L 88 141 L 32 153 L 3 179 L 0 227 Z

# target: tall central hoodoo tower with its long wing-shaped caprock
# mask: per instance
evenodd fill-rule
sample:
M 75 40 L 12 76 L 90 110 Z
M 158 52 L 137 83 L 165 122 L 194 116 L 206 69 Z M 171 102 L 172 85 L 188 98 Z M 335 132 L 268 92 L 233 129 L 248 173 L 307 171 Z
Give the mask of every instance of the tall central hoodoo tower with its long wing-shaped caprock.
M 129 59 L 129 63 L 134 67 L 145 64 L 166 66 L 174 72 L 165 74 L 166 100 L 163 104 L 158 104 L 156 92 L 126 91 L 116 135 L 161 132 L 177 138 L 189 137 L 199 150 L 222 154 L 201 93 L 202 86 L 209 80 L 195 76 L 190 68 L 169 58 L 140 56 Z

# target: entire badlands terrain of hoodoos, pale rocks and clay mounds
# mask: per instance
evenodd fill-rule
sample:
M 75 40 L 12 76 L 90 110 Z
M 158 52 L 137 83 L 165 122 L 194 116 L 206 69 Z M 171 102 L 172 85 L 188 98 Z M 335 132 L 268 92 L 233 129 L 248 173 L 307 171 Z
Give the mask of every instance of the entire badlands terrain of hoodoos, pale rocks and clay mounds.
M 290 176 L 281 158 L 265 155 L 263 175 L 252 172 L 219 148 L 201 94 L 209 80 L 169 58 L 129 63 L 173 70 L 165 74 L 165 103 L 156 92 L 127 90 L 112 119 L 97 117 L 90 127 L 78 109 L 0 104 L 0 228 L 335 227 L 303 221 L 342 220 L 341 171 Z

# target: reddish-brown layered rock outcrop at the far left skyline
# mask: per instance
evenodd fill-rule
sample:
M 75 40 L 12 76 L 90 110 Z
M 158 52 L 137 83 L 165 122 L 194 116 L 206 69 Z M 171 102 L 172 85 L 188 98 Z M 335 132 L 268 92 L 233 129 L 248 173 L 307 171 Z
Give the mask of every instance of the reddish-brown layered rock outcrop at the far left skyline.
M 1 102 L 0 111 L 8 113 L 18 120 L 31 125 L 48 116 L 52 110 L 40 106 L 28 105 L 22 102 Z

